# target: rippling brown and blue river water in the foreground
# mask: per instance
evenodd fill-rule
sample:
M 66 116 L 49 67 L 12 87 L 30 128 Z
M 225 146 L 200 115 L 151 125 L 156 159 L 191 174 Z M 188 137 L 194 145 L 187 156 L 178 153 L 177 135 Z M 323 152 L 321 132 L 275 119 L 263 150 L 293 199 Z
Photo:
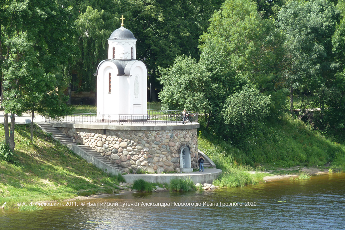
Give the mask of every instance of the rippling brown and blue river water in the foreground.
M 214 191 L 134 193 L 61 203 L 65 207 L 0 211 L 0 229 L 343 230 L 345 174 Z

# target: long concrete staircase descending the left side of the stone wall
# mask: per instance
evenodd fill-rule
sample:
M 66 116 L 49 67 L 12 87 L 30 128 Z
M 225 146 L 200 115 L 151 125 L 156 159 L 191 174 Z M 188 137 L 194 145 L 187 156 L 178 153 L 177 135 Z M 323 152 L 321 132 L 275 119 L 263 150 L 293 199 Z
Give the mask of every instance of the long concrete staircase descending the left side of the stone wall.
M 117 175 L 118 173 L 122 173 L 123 168 L 120 167 L 116 163 L 111 163 L 110 160 L 103 157 L 99 152 L 95 149 L 86 146 L 86 145 L 76 145 L 75 142 L 72 141 L 70 137 L 67 137 L 64 133 L 62 133 L 59 129 L 52 127 L 49 123 L 37 123 L 37 125 L 47 133 L 50 133 L 51 136 L 60 142 L 62 145 L 67 145 L 72 151 L 76 154 L 81 156 L 82 158 L 86 159 L 89 163 L 94 164 L 96 167 L 101 168 L 105 172 L 112 171 L 112 174 Z M 115 170 L 113 170 L 115 169 Z

